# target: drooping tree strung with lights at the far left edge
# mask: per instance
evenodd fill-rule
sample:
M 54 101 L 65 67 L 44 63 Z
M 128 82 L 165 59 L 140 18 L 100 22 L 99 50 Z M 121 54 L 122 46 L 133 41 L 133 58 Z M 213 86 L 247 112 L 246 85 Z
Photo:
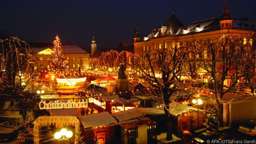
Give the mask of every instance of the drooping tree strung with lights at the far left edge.
M 0 98 L 5 110 L 17 110 L 27 118 L 37 106 L 37 90 L 43 85 L 37 60 L 28 44 L 17 37 L 0 40 Z

